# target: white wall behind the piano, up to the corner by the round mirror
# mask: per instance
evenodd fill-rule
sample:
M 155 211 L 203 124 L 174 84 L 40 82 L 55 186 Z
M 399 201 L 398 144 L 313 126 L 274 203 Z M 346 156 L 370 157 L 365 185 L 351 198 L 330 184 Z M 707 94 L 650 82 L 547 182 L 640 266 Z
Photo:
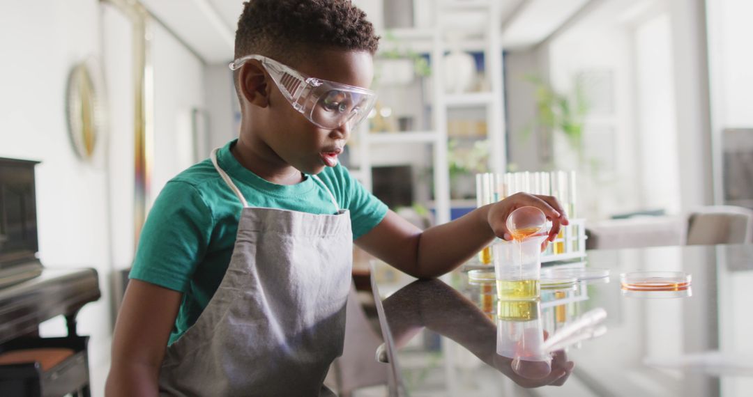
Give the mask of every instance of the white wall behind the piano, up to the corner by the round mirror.
M 36 168 L 39 256 L 50 268 L 96 268 L 103 298 L 78 315 L 91 335 L 90 362 L 106 366 L 108 206 L 105 145 L 93 163 L 75 156 L 63 98 L 72 65 L 100 47 L 99 7 L 93 0 L 0 3 L 0 156 L 41 161 Z M 42 332 L 56 334 L 62 320 Z M 93 386 L 101 389 L 102 379 Z

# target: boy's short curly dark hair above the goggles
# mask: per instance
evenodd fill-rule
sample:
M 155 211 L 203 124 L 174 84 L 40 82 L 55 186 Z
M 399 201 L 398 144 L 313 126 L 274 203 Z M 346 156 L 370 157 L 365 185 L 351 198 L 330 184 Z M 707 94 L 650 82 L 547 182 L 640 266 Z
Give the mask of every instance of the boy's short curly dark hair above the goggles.
M 350 0 L 250 0 L 236 31 L 235 58 L 269 56 L 294 66 L 319 50 L 377 51 L 379 37 Z

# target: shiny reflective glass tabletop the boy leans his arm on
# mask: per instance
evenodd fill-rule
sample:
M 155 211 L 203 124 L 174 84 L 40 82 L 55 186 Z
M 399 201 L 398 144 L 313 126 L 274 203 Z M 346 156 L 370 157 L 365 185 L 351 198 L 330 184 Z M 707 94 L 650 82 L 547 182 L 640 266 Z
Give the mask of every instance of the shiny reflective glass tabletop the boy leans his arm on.
M 538 299 L 511 302 L 498 299 L 493 278 L 474 271 L 469 280 L 469 268 L 416 280 L 374 264 L 380 320 L 405 394 L 753 393 L 753 245 L 595 250 L 582 261 L 545 264 L 542 274 L 561 267 L 568 269 L 551 277 L 560 282 L 542 284 Z M 633 271 L 684 271 L 692 281 L 671 292 L 622 289 L 620 274 Z M 602 335 L 526 356 L 601 310 Z

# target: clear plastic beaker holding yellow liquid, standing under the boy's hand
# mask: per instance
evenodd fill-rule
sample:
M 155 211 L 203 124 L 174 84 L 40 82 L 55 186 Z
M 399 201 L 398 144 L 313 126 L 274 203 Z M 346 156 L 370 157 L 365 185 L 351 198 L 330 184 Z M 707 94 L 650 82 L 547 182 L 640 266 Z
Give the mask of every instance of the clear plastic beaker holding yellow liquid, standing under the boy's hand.
M 497 295 L 501 300 L 538 298 L 541 287 L 541 242 L 546 236 L 493 246 Z

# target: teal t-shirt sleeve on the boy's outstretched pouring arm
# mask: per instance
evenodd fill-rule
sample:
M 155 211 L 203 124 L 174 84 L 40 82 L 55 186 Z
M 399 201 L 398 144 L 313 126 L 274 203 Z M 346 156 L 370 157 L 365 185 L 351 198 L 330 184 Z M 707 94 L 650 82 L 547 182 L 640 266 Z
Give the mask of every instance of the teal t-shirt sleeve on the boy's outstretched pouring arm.
M 350 223 L 353 231 L 353 240 L 370 232 L 374 226 L 379 225 L 387 214 L 387 205 L 377 196 L 371 194 L 348 170 L 338 165 L 336 168 L 337 179 L 342 183 L 342 189 L 346 202 L 340 203 L 350 211 Z

